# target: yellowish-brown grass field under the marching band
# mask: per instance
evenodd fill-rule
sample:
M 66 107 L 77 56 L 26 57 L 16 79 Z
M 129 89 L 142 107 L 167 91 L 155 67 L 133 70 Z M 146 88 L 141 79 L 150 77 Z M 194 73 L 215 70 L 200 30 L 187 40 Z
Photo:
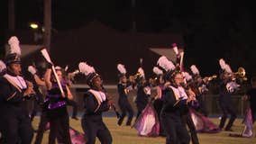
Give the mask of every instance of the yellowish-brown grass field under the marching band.
M 218 123 L 217 119 L 211 119 L 215 123 Z M 138 132 L 135 129 L 131 129 L 131 127 L 127 126 L 117 126 L 115 117 L 105 117 L 104 121 L 111 131 L 113 136 L 114 144 L 164 144 L 165 138 L 156 137 L 139 137 Z M 38 126 L 39 118 L 36 117 L 32 122 L 33 127 L 36 129 Z M 70 126 L 75 128 L 78 131 L 83 131 L 81 128 L 81 121 L 75 121 L 70 119 Z M 124 120 L 125 122 L 125 120 Z M 233 125 L 232 133 L 241 133 L 243 130 L 242 119 L 237 119 Z M 256 131 L 254 124 L 254 131 Z M 227 131 L 221 131 L 215 134 L 206 134 L 206 133 L 198 133 L 198 139 L 200 144 L 256 144 L 256 138 L 233 138 L 229 137 L 229 133 Z M 48 135 L 49 130 L 47 130 L 44 134 L 42 144 L 48 143 Z M 34 135 L 35 136 L 35 135 Z M 190 142 L 191 143 L 191 142 Z M 96 144 L 99 144 L 99 141 L 96 141 Z

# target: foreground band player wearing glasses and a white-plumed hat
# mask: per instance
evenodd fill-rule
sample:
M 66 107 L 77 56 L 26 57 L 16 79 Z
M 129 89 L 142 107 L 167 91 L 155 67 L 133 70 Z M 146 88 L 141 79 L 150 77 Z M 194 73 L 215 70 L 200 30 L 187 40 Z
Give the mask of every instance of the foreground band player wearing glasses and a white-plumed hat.
M 184 109 L 191 99 L 187 97 L 185 89 L 181 86 L 184 78 L 166 57 L 160 57 L 158 65 L 165 70 L 165 79 L 170 82 L 164 91 L 163 108 L 160 112 L 160 120 L 167 135 L 166 143 L 188 144 L 190 138 L 181 115 L 184 114 Z

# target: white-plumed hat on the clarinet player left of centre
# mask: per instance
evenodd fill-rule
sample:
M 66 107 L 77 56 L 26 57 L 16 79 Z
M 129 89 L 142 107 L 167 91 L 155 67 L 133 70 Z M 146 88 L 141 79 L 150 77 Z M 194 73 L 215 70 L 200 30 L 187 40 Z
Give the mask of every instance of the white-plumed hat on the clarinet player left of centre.
M 85 74 L 86 78 L 87 78 L 87 85 L 91 86 L 93 83 L 94 78 L 96 78 L 97 76 L 99 76 L 96 73 L 96 70 L 94 67 L 91 67 L 89 65 L 87 65 L 86 62 L 80 62 L 79 65 L 79 71 L 82 74 Z

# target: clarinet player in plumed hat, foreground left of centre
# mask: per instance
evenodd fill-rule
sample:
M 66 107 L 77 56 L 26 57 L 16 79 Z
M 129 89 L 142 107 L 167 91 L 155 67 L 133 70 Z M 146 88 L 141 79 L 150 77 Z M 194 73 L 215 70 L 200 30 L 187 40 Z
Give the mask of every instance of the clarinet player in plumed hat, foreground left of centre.
M 102 79 L 94 67 L 80 62 L 79 69 L 86 75 L 87 85 L 90 86 L 84 95 L 85 112 L 81 121 L 86 135 L 86 143 L 95 144 L 97 137 L 101 143 L 110 144 L 112 136 L 102 120 L 102 112 L 108 111 L 113 103 L 106 96 Z

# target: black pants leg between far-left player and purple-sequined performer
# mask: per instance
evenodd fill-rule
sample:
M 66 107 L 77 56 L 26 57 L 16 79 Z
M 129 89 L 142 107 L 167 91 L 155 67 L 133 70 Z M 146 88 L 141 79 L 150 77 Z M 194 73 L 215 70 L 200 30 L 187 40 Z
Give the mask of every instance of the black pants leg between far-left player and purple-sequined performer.
M 47 118 L 47 114 L 46 114 L 46 112 L 43 111 L 43 112 L 41 112 L 40 123 L 39 123 L 39 127 L 37 130 L 37 135 L 36 135 L 34 144 L 41 144 L 41 140 L 43 138 L 43 133 L 45 131 L 47 122 L 49 122 L 49 120 Z

